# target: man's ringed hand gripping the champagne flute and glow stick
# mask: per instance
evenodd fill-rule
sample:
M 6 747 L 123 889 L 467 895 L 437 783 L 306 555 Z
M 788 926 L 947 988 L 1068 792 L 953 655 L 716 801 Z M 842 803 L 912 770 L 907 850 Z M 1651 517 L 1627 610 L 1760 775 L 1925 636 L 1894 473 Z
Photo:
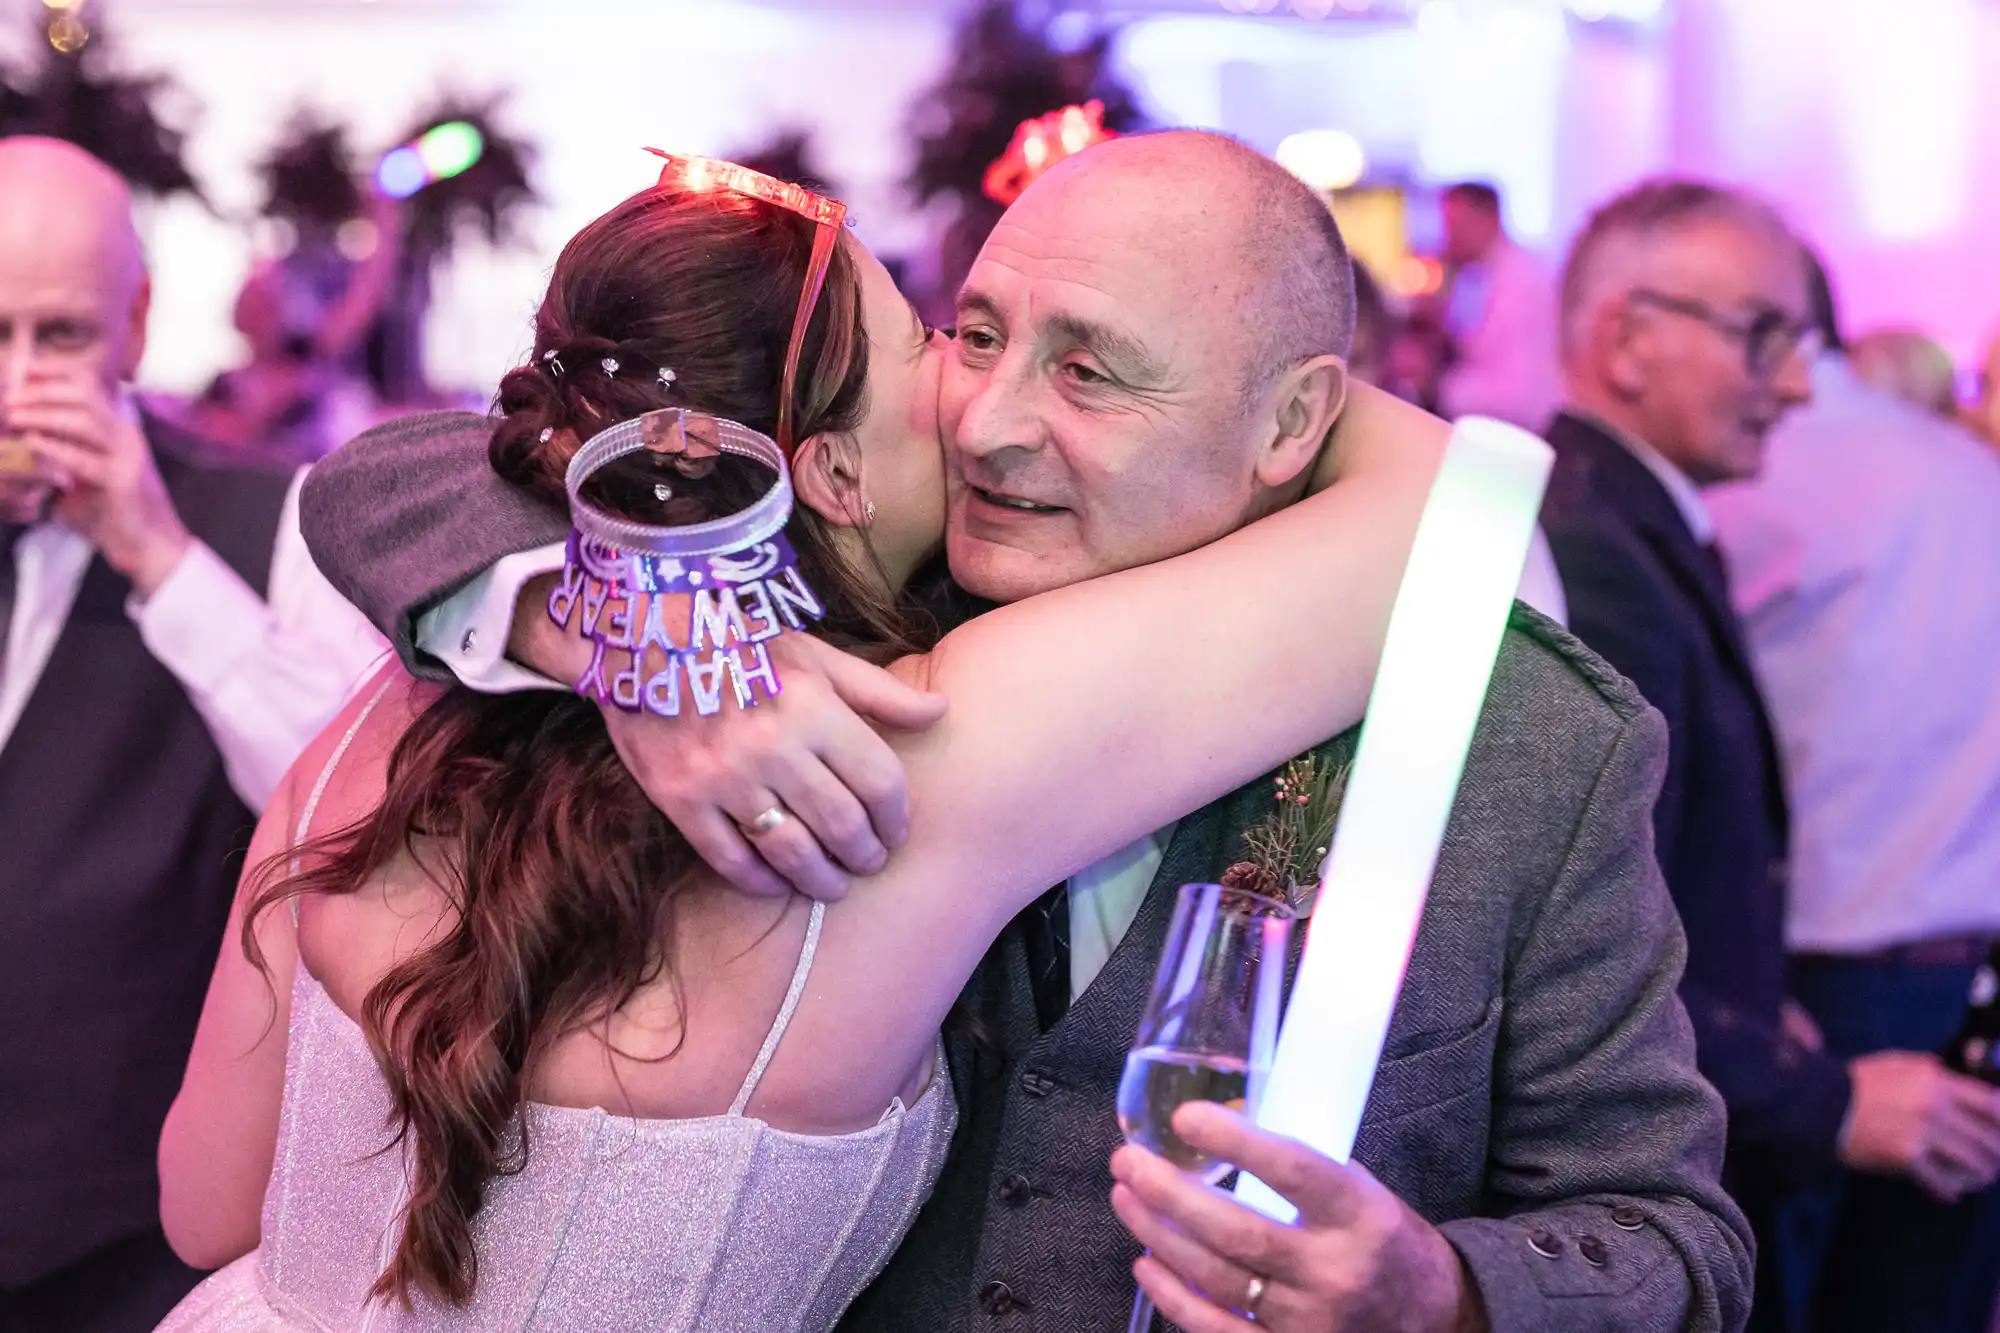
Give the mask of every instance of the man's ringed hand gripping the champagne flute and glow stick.
M 1264 1133 L 1214 1103 L 1180 1107 L 1174 1133 L 1298 1207 L 1298 1223 L 1286 1227 L 1146 1149 L 1112 1155 L 1112 1207 L 1152 1251 L 1134 1275 L 1188 1333 L 1488 1327 L 1458 1251 L 1364 1167 Z

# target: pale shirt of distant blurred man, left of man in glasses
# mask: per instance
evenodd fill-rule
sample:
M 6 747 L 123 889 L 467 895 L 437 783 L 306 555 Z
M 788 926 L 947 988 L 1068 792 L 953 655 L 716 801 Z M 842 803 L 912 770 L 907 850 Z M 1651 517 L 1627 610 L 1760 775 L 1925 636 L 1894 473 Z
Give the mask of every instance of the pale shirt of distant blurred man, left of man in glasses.
M 1508 238 L 1452 282 L 1458 362 L 1438 384 L 1446 416 L 1498 416 L 1540 434 L 1562 398 L 1556 282 Z

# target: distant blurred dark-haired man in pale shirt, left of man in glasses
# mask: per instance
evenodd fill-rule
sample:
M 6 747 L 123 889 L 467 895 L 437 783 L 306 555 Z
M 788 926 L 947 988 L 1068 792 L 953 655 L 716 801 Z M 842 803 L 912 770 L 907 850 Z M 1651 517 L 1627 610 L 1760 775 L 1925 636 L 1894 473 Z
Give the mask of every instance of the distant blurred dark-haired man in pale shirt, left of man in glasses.
M 1438 386 L 1440 412 L 1540 430 L 1562 400 L 1548 268 L 1508 238 L 1492 186 L 1456 184 L 1442 208 L 1452 354 Z

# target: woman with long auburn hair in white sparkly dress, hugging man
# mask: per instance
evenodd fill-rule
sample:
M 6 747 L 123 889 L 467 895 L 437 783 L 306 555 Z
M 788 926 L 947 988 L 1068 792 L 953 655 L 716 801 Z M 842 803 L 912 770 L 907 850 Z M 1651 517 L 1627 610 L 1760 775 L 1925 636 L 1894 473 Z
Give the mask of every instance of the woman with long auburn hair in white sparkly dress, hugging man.
M 576 450 L 660 408 L 776 436 L 812 632 L 950 701 L 894 737 L 910 839 L 840 903 L 748 897 L 592 703 L 384 671 L 252 847 L 160 1147 L 174 1247 L 228 1267 L 168 1329 L 830 1327 L 950 1147 L 938 1031 L 1006 921 L 1360 719 L 1442 426 L 1360 398 L 1322 448 L 1336 386 L 1280 440 L 1310 498 L 932 642 L 948 344 L 838 222 L 828 250 L 732 180 L 666 178 L 570 240 L 492 466 L 566 502 Z M 654 524 L 772 484 L 732 456 L 602 476 L 596 504 Z M 1222 602 L 1228 638 L 1190 636 Z

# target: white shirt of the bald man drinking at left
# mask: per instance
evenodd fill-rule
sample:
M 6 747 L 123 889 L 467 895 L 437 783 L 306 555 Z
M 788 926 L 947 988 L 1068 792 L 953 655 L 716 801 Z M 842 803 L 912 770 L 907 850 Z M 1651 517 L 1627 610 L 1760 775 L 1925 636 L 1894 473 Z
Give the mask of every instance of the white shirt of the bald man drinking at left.
M 304 470 L 292 478 L 278 516 L 268 602 L 222 556 L 194 542 L 148 600 L 126 606 L 146 650 L 188 691 L 222 751 L 230 787 L 252 811 L 264 809 L 306 743 L 388 650 L 306 552 L 298 530 L 302 478 Z M 58 520 L 28 528 L 14 548 L 0 747 L 42 681 L 94 554 Z

